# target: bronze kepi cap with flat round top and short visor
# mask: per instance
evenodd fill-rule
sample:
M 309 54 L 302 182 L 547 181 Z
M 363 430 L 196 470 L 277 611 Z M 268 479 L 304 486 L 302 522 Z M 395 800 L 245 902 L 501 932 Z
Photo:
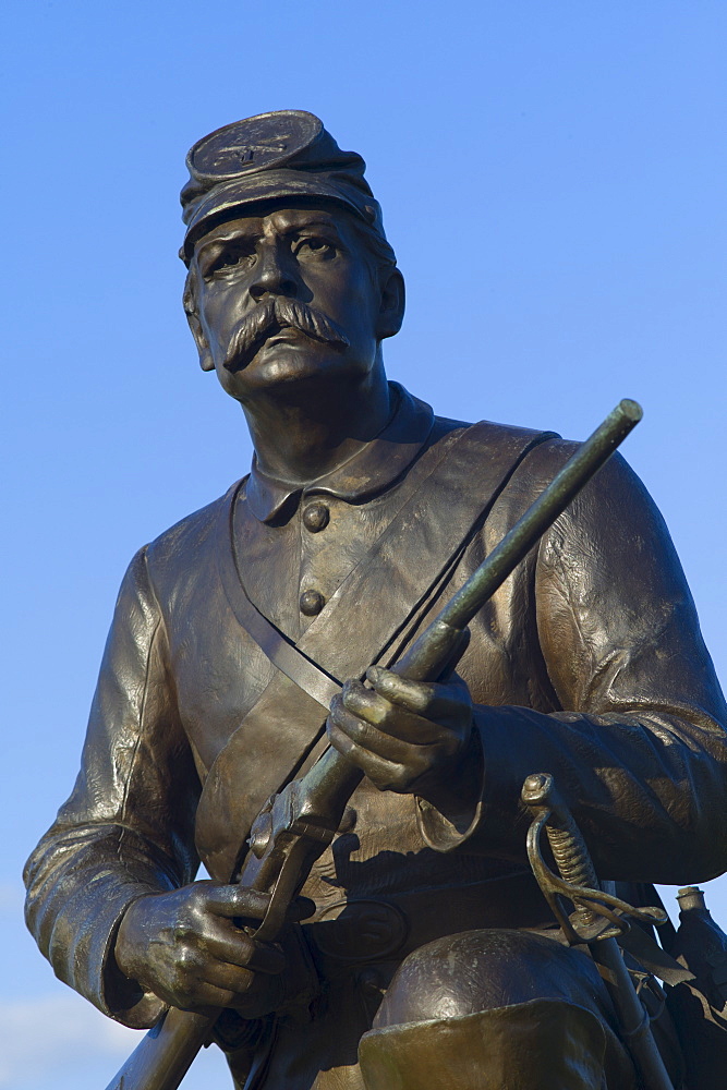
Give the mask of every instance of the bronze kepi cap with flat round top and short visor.
M 180 256 L 217 223 L 250 205 L 323 197 L 353 213 L 383 238 L 381 209 L 364 178 L 366 164 L 342 152 L 305 110 L 276 110 L 217 129 L 190 149 L 180 199 L 186 223 Z

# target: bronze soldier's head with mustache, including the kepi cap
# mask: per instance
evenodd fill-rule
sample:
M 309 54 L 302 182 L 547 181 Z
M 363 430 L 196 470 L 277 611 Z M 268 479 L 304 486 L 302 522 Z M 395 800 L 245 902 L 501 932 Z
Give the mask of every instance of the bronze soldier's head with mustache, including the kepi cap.
M 203 368 L 243 403 L 381 368 L 403 281 L 361 156 L 313 114 L 281 110 L 204 137 L 187 167 L 180 256 Z

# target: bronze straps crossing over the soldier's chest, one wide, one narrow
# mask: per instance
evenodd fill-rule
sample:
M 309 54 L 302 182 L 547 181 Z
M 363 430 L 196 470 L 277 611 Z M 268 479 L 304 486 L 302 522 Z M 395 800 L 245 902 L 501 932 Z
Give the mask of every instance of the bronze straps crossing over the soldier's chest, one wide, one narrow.
M 328 706 L 342 682 L 363 677 L 372 663 L 400 657 L 518 465 L 553 436 L 482 421 L 428 448 L 410 469 L 391 522 L 296 644 L 245 592 L 234 559 L 232 495 L 217 525 L 220 581 L 239 623 L 277 670 L 204 785 L 196 844 L 211 874 L 221 881 L 234 875 L 269 796 L 317 758 Z M 404 545 L 415 564 L 401 564 Z M 257 783 L 245 775 L 251 753 L 255 767 L 265 768 Z

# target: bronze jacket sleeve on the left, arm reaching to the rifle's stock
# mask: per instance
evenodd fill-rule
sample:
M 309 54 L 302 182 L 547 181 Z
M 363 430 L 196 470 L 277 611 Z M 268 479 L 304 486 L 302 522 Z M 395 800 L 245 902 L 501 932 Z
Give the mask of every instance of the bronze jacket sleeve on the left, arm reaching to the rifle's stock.
M 116 933 L 134 899 L 194 877 L 198 794 L 142 549 L 119 593 L 73 794 L 25 868 L 27 924 L 56 974 L 129 1026 L 152 1025 L 162 1005 L 119 972 Z

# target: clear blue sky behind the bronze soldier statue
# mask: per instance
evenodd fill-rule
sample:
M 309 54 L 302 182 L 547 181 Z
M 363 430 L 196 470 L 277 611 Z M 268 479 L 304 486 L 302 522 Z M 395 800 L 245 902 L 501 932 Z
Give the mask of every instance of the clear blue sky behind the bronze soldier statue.
M 440 412 L 579 438 L 640 400 L 625 453 L 725 679 L 727 9 L 14 0 L 2 20 L 0 1088 L 98 1090 L 126 1033 L 54 981 L 19 872 L 72 786 L 126 562 L 250 461 L 180 304 L 187 147 L 302 108 L 363 153 L 409 287 L 389 371 Z M 727 882 L 711 896 L 724 923 Z M 216 1086 L 210 1050 L 185 1088 Z

